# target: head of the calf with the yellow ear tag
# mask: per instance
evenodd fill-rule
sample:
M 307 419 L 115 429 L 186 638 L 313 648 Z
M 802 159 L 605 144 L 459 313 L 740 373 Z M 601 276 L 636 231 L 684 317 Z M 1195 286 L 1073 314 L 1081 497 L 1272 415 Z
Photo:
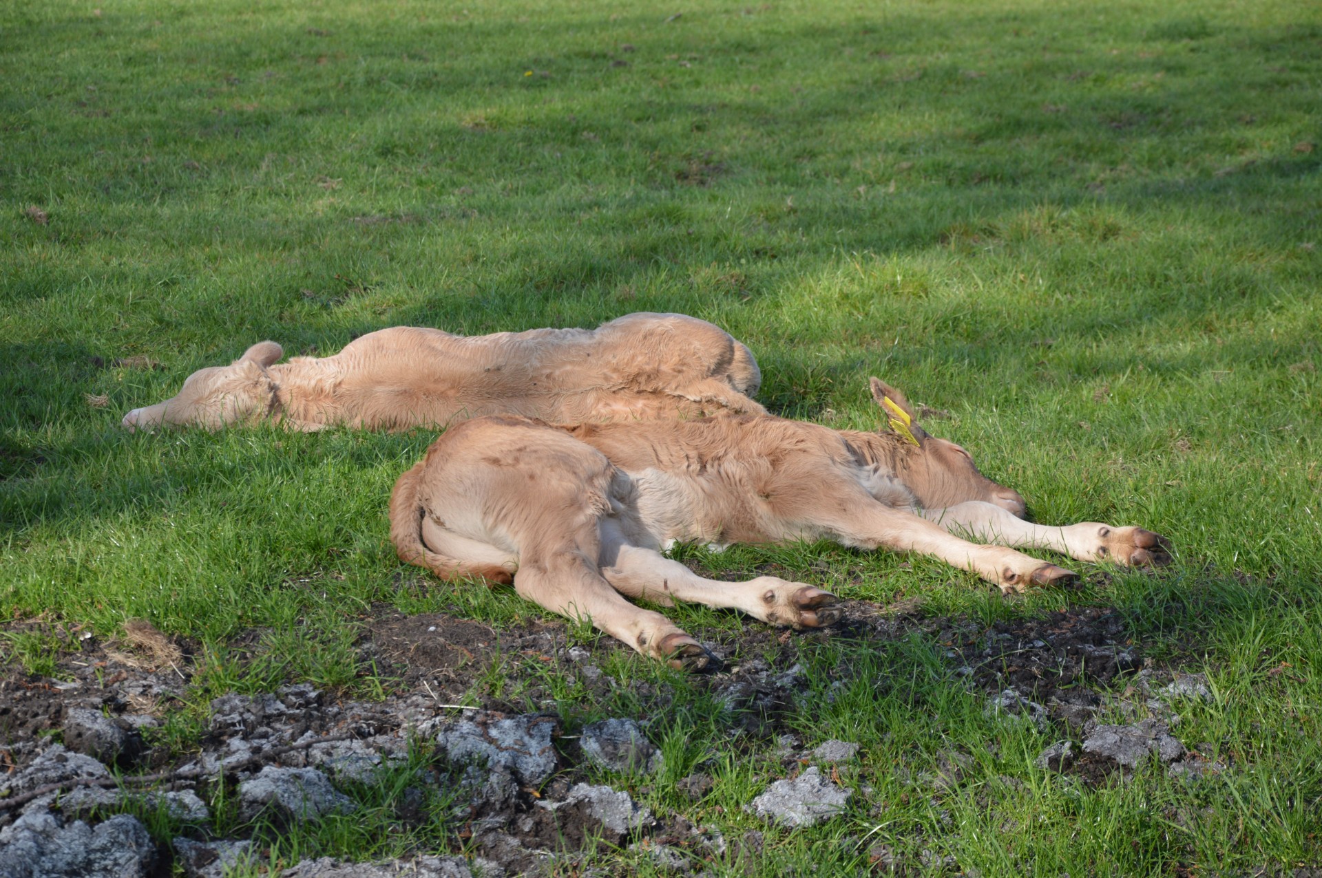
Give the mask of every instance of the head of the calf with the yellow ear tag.
M 973 456 L 954 442 L 936 438 L 917 425 L 917 413 L 904 393 L 879 379 L 871 379 L 873 399 L 886 412 L 890 429 L 917 453 L 910 458 L 904 485 L 924 508 L 937 510 L 968 500 L 994 503 L 1022 516 L 1023 498 L 1014 489 L 997 485 L 978 471 Z

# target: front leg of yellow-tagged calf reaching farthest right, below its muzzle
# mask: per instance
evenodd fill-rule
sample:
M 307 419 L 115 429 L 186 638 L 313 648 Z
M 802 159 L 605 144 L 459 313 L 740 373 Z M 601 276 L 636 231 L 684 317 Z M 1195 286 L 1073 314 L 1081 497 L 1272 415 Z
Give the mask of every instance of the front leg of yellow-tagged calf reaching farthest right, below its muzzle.
M 1112 527 L 1100 522 L 1048 527 L 1025 522 L 981 500 L 925 510 L 923 515 L 947 531 L 966 533 L 974 540 L 1050 549 L 1079 561 L 1109 558 L 1125 566 L 1155 566 L 1170 561 L 1166 537 L 1141 527 Z

